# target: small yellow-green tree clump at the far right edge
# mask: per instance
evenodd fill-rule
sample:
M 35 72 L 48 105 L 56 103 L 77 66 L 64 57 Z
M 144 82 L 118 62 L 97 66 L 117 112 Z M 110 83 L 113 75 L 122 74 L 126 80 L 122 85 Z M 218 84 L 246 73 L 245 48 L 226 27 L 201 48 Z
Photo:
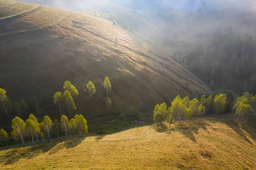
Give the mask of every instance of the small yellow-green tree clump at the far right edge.
M 256 115 L 256 95 L 244 92 L 243 96 L 233 101 L 233 111 L 237 120 L 247 122 L 250 114 Z

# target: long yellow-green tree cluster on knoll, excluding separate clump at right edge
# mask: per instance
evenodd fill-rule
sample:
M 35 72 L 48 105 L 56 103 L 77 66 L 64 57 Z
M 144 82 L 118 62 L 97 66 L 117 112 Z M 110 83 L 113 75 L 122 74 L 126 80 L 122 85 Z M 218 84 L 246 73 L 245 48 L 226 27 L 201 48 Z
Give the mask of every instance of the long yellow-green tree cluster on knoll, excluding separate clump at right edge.
M 171 102 L 171 106 L 167 108 L 166 103 L 157 104 L 153 112 L 153 120 L 157 121 L 157 126 L 162 125 L 167 119 L 169 124 L 175 123 L 183 119 L 184 121 L 200 118 L 202 115 L 214 114 L 217 116 L 223 113 L 227 105 L 227 95 L 218 94 L 213 98 L 203 95 L 199 101 L 197 98 L 192 100 L 189 97 L 180 98 L 179 95 Z

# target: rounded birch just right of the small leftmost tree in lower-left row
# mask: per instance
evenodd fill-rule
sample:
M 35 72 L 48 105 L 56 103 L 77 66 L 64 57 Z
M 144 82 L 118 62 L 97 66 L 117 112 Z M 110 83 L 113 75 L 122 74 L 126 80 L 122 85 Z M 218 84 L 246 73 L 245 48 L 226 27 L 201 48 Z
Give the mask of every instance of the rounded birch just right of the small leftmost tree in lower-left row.
M 12 136 L 19 140 L 21 139 L 23 143 L 23 147 L 25 147 L 24 144 L 24 136 L 26 135 L 26 123 L 19 117 L 15 117 L 12 119 Z

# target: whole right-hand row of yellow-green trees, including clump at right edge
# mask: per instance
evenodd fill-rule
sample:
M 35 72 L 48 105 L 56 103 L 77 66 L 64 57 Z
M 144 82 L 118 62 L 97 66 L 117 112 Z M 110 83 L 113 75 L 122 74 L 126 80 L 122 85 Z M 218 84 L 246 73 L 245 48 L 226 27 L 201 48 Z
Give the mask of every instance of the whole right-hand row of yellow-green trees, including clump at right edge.
M 162 125 L 162 122 L 167 119 L 169 124 L 175 123 L 183 119 L 184 121 L 194 120 L 200 118 L 202 115 L 209 115 L 210 113 L 217 116 L 227 109 L 227 103 L 233 106 L 235 118 L 237 120 L 247 122 L 250 115 L 256 115 L 256 95 L 244 92 L 240 97 L 234 99 L 231 103 L 230 99 L 227 100 L 225 93 L 217 94 L 213 98 L 209 95 L 201 96 L 199 101 L 197 98 L 190 100 L 189 97 L 180 98 L 178 95 L 172 102 L 171 106 L 167 108 L 166 103 L 157 104 L 153 111 L 153 119 L 157 121 L 157 126 Z

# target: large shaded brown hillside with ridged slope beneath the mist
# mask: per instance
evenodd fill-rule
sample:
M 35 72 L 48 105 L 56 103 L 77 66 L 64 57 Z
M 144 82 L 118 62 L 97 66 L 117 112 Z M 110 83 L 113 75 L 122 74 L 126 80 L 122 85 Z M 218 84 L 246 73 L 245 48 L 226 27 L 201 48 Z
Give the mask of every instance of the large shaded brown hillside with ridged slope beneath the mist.
M 63 90 L 67 80 L 80 93 L 75 98 L 77 110 L 72 113 L 86 118 L 134 113 L 140 109 L 139 98 L 151 111 L 156 103 L 169 103 L 178 94 L 210 92 L 180 64 L 157 55 L 149 40 L 107 20 L 0 0 L 0 23 L 0 87 L 12 101 L 28 101 L 29 112 L 34 112 L 38 102 L 44 110 L 42 115 L 57 115 L 52 96 Z M 146 54 L 141 52 L 145 42 L 149 46 Z M 105 76 L 112 83 L 110 112 L 105 112 Z M 83 92 L 89 80 L 97 90 L 92 99 Z

